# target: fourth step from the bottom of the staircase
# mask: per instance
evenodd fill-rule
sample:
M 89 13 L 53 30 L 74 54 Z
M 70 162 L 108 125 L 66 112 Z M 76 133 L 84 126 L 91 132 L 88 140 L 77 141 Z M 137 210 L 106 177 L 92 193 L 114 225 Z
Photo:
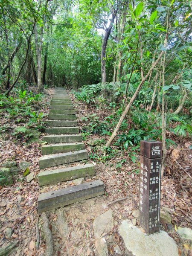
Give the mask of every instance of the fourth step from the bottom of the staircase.
M 67 153 L 71 151 L 78 151 L 84 149 L 84 143 L 58 143 L 52 145 L 42 145 L 41 154 L 58 154 L 58 153 Z

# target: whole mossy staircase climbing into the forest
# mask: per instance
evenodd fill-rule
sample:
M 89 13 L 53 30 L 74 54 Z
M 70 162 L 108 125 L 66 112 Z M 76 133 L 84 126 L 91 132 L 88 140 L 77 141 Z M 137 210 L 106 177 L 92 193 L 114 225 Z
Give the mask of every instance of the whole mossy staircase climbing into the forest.
M 47 144 L 42 145 L 42 157 L 39 158 L 41 169 L 38 175 L 39 186 L 95 175 L 95 166 L 91 163 L 82 163 L 73 167 L 64 166 L 88 159 L 77 127 L 72 101 L 64 88 L 55 88 L 45 132 L 47 135 L 43 140 Z M 55 169 L 55 166 L 58 169 Z M 95 180 L 91 183 L 41 193 L 38 197 L 38 213 L 103 195 L 104 192 L 102 181 Z

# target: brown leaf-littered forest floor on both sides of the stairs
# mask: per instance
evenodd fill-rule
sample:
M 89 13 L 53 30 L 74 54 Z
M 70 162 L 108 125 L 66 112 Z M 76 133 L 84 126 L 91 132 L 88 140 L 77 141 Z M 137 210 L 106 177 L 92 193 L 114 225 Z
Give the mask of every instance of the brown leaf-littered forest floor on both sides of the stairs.
M 38 104 L 38 108 L 43 113 L 49 111 L 49 101 L 53 89 L 45 90 L 46 95 Z M 104 112 L 102 108 L 86 106 L 77 101 L 72 93 L 70 96 L 76 108 L 78 126 L 85 125 L 82 117 L 95 113 L 103 120 L 108 116 L 108 110 Z M 1 113 L 2 114 L 2 113 Z M 46 118 L 45 118 L 46 119 Z M 9 123 L 10 127 L 15 128 L 13 119 L 8 119 L 4 114 L 1 116 L 1 125 Z M 21 123 L 19 125 L 22 125 Z M 24 125 L 24 122 L 23 122 Z M 41 134 L 43 136 L 44 134 Z M 92 156 L 95 152 L 102 154 L 102 145 L 92 143 L 93 141 L 107 140 L 107 135 L 90 134 L 84 140 L 87 151 Z M 179 248 L 179 255 L 192 255 L 190 245 L 186 244 L 176 233 L 177 227 L 192 228 L 192 153 L 189 150 L 189 139 L 172 138 L 177 143 L 179 155 L 173 153 L 173 148 L 167 152 L 167 169 L 161 183 L 161 209 L 171 216 L 169 224 L 161 222 L 160 228 L 169 233 Z M 6 160 L 15 160 L 17 165 L 20 161 L 27 161 L 31 165 L 30 172 L 34 172 L 34 177 L 38 175 L 38 158 L 41 156 L 41 137 L 39 142 L 27 144 L 25 139 L 15 140 L 9 133 L 1 134 L 0 137 L 0 157 L 1 163 Z M 94 144 L 94 145 L 93 145 Z M 116 146 L 113 146 L 116 149 Z M 177 152 L 177 153 L 178 153 Z M 98 154 L 98 153 L 97 153 Z M 62 227 L 67 232 L 63 239 L 61 227 L 59 227 L 59 210 L 47 212 L 50 228 L 54 240 L 55 255 L 96 255 L 95 237 L 93 233 L 94 219 L 111 209 L 113 212 L 113 232 L 108 234 L 109 255 L 116 254 L 115 247 L 118 245 L 122 255 L 129 255 L 126 252 L 124 242 L 119 235 L 119 225 L 123 219 L 135 219 L 132 215 L 138 209 L 139 191 L 139 154 L 136 164 L 132 163 L 128 151 L 121 152 L 107 160 L 90 159 L 89 162 L 96 166 L 96 176 L 91 180 L 100 179 L 105 183 L 105 195 L 76 203 L 67 207 L 61 207 L 64 212 L 67 226 Z M 121 168 L 116 168 L 119 160 L 126 159 Z M 75 163 L 74 165 L 79 164 Z M 17 242 L 16 249 L 12 250 L 11 255 L 43 255 L 45 241 L 43 234 L 43 222 L 41 216 L 37 215 L 37 198 L 39 192 L 46 192 L 48 189 L 55 190 L 62 187 L 73 186 L 73 181 L 44 186 L 38 186 L 37 178 L 27 182 L 22 180 L 23 172 L 20 172 L 18 179 L 13 185 L 0 186 L 0 247 L 9 242 Z M 90 181 L 90 180 L 86 180 Z M 121 202 L 116 202 L 119 198 L 127 198 Z M 138 225 L 138 221 L 135 223 Z M 37 227 L 36 227 L 37 226 Z M 7 237 L 6 230 L 11 228 L 13 233 Z M 40 247 L 35 247 L 36 230 L 40 231 Z M 60 231 L 60 232 L 58 232 Z

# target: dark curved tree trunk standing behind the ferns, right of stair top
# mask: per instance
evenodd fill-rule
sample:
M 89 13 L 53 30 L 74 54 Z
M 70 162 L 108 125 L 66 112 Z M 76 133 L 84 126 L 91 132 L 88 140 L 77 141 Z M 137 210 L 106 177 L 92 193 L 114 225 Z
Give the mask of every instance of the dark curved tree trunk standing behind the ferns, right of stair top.
M 105 84 L 107 82 L 107 76 L 106 76 L 106 70 L 105 70 L 105 52 L 106 52 L 106 47 L 109 39 L 109 35 L 111 34 L 111 29 L 113 28 L 113 23 L 116 17 L 116 12 L 113 9 L 112 17 L 111 17 L 111 22 L 109 27 L 105 30 L 105 36 L 103 38 L 103 43 L 102 43 L 102 50 L 101 50 L 101 73 L 102 73 L 102 84 Z

